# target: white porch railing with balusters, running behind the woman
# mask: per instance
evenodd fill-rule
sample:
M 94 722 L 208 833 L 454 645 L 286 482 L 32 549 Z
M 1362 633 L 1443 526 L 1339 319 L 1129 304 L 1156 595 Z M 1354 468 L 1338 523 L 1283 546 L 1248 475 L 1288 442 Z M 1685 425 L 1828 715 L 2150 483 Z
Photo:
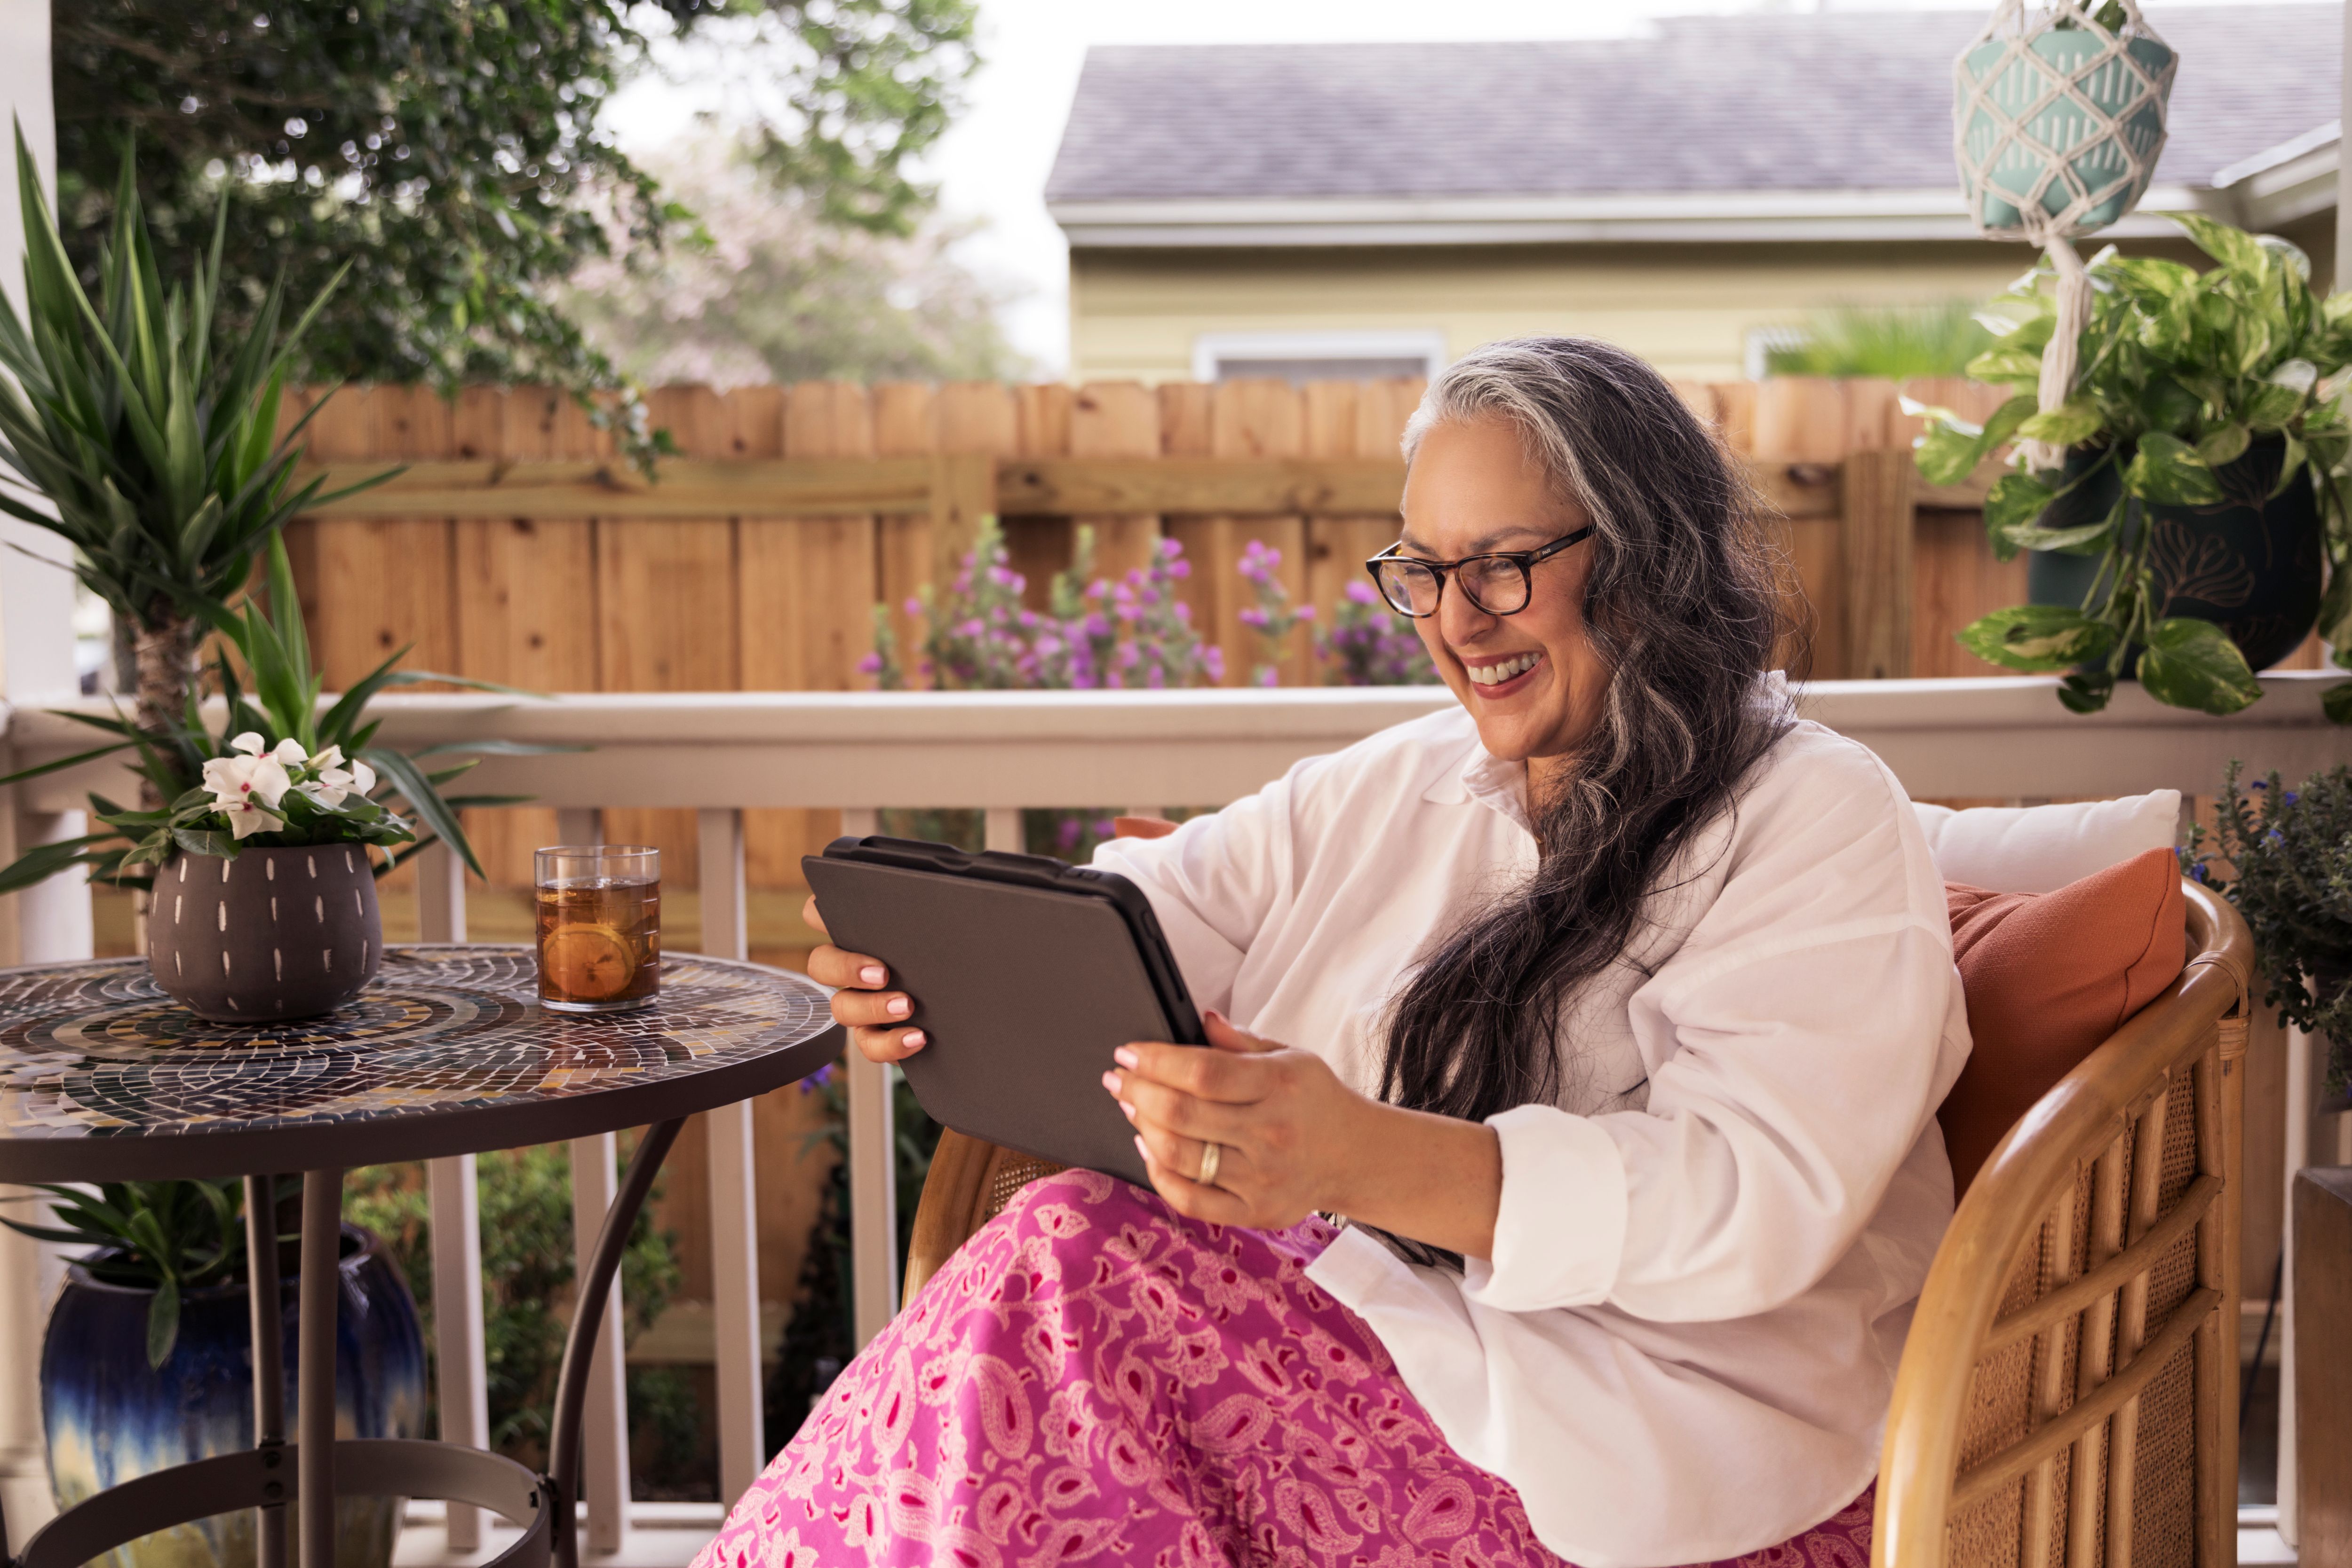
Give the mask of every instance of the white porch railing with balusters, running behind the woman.
M 2093 717 L 2058 708 L 2046 679 L 1820 682 L 1802 712 L 1886 759 L 1915 797 L 2084 797 L 2152 788 L 2213 792 L 2223 766 L 2300 776 L 2352 759 L 2352 731 L 2331 726 L 2319 693 L 2336 675 L 2263 677 L 2265 701 L 2211 719 L 2117 693 Z M 708 952 L 746 952 L 743 809 L 837 806 L 847 832 L 870 832 L 882 806 L 978 806 L 988 844 L 1016 849 L 1023 806 L 1214 806 L 1291 762 L 1336 750 L 1388 724 L 1451 703 L 1442 689 L 1084 691 L 1084 693 L 581 693 L 532 703 L 496 696 L 393 696 L 379 701 L 381 738 L 414 748 L 499 736 L 593 745 L 583 755 L 489 757 L 470 788 L 532 795 L 562 813 L 567 842 L 595 842 L 607 806 L 684 806 L 701 813 L 701 914 Z M 0 708 L 0 771 L 87 748 L 87 729 L 47 712 Z M 78 811 L 87 790 L 125 797 L 122 773 L 89 764 L 19 785 L 7 823 L 42 835 Z M 7 806 L 7 802 L 0 802 Z M 447 853 L 421 860 L 426 940 L 466 936 L 466 889 Z M 5 903 L 5 900 L 0 900 Z M 19 900 L 24 903 L 24 900 Z M 54 903 L 54 898 L 52 898 Z M 87 924 L 82 926 L 87 931 Z M 0 945 L 7 945 L 0 917 Z M 35 936 L 35 933 L 26 933 Z M 87 938 L 85 938 L 87 940 Z M 45 957 L 66 957 L 33 940 Z M 0 961 L 14 954 L 0 952 Z M 753 1246 L 750 1110 L 710 1119 L 710 1213 L 720 1387 L 720 1476 L 731 1497 L 767 1458 L 760 1429 L 760 1281 Z M 891 1110 L 880 1070 L 849 1065 L 849 1166 L 858 1340 L 896 1307 L 891 1258 Z M 593 1234 L 612 1192 L 612 1140 L 574 1147 Z M 482 1401 L 480 1244 L 473 1161 L 435 1161 L 433 1267 L 456 1288 L 435 1291 L 445 1436 L 487 1441 Z M 459 1307 L 466 1302 L 468 1307 Z M 28 1366 L 38 1324 L 7 1321 L 0 1295 L 0 1366 Z M 630 1512 L 621 1408 L 619 1300 L 600 1335 L 597 1394 L 588 1408 L 590 1552 L 626 1542 Z M 774 1434 L 779 1441 L 783 1434 Z M 2291 1448 L 2286 1448 L 2291 1453 Z M 482 1521 L 452 1509 L 447 1559 L 485 1549 Z M 652 1519 L 652 1516 L 647 1516 Z M 675 1535 L 675 1533 L 673 1533 Z M 414 1549 L 402 1561 L 419 1559 Z

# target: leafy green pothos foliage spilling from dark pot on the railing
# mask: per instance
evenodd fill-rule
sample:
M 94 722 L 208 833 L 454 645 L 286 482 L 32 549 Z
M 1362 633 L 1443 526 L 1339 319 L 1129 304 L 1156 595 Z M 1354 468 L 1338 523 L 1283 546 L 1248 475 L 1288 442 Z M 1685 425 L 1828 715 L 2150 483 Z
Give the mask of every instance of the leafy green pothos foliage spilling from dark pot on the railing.
M 2004 442 L 2046 442 L 2070 451 L 2065 470 L 2032 470 L 2025 454 L 1985 498 L 1985 531 L 1999 559 L 2018 550 L 2096 557 L 2100 569 L 2082 604 L 2018 604 L 1959 632 L 1997 665 L 2065 672 L 2058 691 L 2074 712 L 2107 705 L 2117 679 L 2136 675 L 2161 703 L 2237 712 L 2263 696 L 2237 644 L 2194 616 L 2164 616 L 2150 569 L 2152 529 L 2140 503 L 2211 505 L 2225 498 L 2227 468 L 2263 437 L 2284 442 L 2272 496 L 2310 484 L 2326 531 L 2331 581 L 2319 635 L 2336 663 L 2352 668 L 2352 510 L 2345 458 L 2352 423 L 2352 292 L 2314 299 L 2310 259 L 2277 235 L 2249 235 L 2199 214 L 2166 214 L 2213 259 L 2197 268 L 2159 256 L 2091 259 L 2091 320 L 2077 339 L 2077 374 L 2063 407 L 2042 411 L 2034 388 L 2056 324 L 2044 261 L 1978 317 L 1994 346 L 1969 376 L 2018 388 L 1983 423 L 1950 409 L 1905 404 L 1929 416 L 1919 473 L 1931 484 L 1966 480 Z M 2112 475 L 2112 477 L 2110 477 Z M 2114 503 L 2084 522 L 2051 527 L 2051 503 L 2117 482 Z M 2136 668 L 2126 668 L 2136 661 Z M 2328 693 L 2328 717 L 2352 719 L 2352 682 Z

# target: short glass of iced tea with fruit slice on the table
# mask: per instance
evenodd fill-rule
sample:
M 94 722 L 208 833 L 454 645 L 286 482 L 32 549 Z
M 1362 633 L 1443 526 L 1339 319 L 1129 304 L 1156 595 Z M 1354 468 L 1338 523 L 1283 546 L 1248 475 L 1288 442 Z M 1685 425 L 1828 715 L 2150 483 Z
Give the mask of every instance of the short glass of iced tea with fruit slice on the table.
M 642 844 L 536 856 L 539 1006 L 626 1013 L 661 992 L 661 851 Z

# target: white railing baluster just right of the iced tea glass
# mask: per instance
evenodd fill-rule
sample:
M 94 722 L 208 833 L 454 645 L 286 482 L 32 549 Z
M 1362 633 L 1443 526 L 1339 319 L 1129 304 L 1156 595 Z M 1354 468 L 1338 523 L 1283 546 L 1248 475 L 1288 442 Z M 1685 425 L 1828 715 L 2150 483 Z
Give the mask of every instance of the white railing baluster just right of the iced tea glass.
M 743 891 L 743 813 L 699 813 L 703 865 L 703 952 L 750 957 Z M 710 1307 L 717 1333 L 720 1502 L 760 1476 L 760 1211 L 753 1185 L 750 1100 L 703 1114 L 710 1147 Z

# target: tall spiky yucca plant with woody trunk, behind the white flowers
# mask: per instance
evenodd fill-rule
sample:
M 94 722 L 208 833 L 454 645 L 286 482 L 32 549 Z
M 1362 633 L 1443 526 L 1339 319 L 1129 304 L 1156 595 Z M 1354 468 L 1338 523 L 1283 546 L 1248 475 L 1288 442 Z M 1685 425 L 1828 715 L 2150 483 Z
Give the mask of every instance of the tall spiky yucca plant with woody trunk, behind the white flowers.
M 320 494 L 320 480 L 296 489 L 296 437 L 318 407 L 278 435 L 287 355 L 341 273 L 292 329 L 282 327 L 282 280 L 273 282 L 252 329 L 216 343 L 226 188 L 212 252 L 188 282 L 165 289 L 125 150 L 96 299 L 56 235 L 24 127 L 16 190 L 26 315 L 0 301 L 0 367 L 9 371 L 0 376 L 0 468 L 9 470 L 0 512 L 73 545 L 75 576 L 129 628 L 134 719 L 160 736 L 181 717 L 202 639 L 228 616 L 263 545 L 296 512 L 390 477 L 334 496 Z

